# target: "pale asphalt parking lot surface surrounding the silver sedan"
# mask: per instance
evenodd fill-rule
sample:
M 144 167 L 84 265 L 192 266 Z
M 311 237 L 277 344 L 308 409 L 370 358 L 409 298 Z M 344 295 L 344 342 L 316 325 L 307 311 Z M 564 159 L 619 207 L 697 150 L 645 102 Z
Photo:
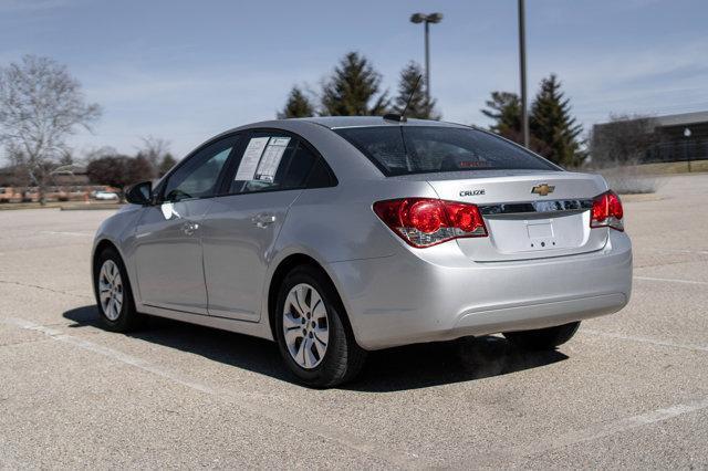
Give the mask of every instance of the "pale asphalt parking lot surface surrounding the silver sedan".
M 377 352 L 340 389 L 275 345 L 102 331 L 108 211 L 0 211 L 0 468 L 706 468 L 708 175 L 625 202 L 631 304 L 556 352 L 490 336 Z

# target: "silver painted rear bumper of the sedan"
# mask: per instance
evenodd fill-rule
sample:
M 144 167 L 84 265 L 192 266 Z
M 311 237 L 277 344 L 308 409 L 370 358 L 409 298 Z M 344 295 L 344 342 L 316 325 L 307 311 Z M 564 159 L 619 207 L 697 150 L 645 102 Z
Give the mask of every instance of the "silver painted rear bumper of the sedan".
M 452 242 L 327 269 L 367 349 L 542 328 L 627 304 L 632 245 L 610 232 L 603 250 L 577 255 L 476 263 Z

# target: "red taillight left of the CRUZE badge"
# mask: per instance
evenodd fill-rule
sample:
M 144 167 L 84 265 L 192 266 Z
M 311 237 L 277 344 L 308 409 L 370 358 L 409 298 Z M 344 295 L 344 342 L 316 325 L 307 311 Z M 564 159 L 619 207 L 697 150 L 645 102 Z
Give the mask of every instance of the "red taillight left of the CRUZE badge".
M 374 212 L 404 241 L 417 248 L 457 238 L 487 236 L 485 220 L 476 205 L 404 198 L 377 201 Z

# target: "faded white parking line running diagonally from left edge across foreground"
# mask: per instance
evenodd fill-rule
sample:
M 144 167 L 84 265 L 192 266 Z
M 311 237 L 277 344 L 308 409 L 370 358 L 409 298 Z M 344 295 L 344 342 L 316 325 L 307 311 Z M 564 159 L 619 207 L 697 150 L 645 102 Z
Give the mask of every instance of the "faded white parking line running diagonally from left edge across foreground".
M 248 397 L 248 396 L 235 395 L 231 390 L 215 388 L 215 387 L 195 381 L 185 375 L 170 371 L 166 368 L 154 365 L 143 358 L 138 358 L 138 357 L 125 354 L 123 352 L 118 352 L 116 349 L 108 348 L 103 345 L 98 345 L 90 341 L 84 341 L 83 338 L 66 335 L 56 328 L 39 325 L 22 318 L 17 318 L 17 317 L 0 318 L 0 322 L 4 324 L 13 325 L 15 327 L 20 327 L 23 329 L 28 329 L 28 331 L 41 332 L 54 341 L 63 342 L 63 343 L 76 346 L 79 348 L 83 348 L 90 352 L 97 353 L 100 355 L 104 355 L 117 362 L 139 368 L 144 371 L 148 371 L 154 375 L 160 376 L 163 378 L 169 379 L 174 383 L 177 383 L 181 386 L 186 386 L 190 389 L 195 389 L 211 396 L 229 398 L 235 402 L 236 407 L 239 407 L 246 410 L 247 412 L 267 417 L 275 422 L 280 422 L 280 423 L 284 423 L 290 427 L 293 427 L 294 429 L 317 435 L 325 440 L 337 442 L 344 447 L 351 448 L 361 453 L 369 454 L 372 457 L 382 459 L 391 464 L 406 468 L 406 467 L 410 467 L 416 462 L 417 456 L 393 450 L 389 447 L 385 447 L 375 441 L 367 441 L 358 437 L 352 436 L 334 425 L 323 423 L 322 419 L 319 420 L 320 423 L 314 423 L 312 420 L 309 420 L 308 417 L 299 416 L 299 412 L 295 410 L 292 410 L 292 409 L 280 410 L 277 407 L 274 407 L 272 404 L 267 404 L 266 396 L 259 395 L 259 396 Z M 308 427 L 303 427 L 304 423 L 306 423 Z

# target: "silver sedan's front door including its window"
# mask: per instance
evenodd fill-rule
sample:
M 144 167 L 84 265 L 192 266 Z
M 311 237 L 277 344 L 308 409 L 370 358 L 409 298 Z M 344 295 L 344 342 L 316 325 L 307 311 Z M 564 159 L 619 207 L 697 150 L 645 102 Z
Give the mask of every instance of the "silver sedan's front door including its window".
M 201 221 L 214 203 L 236 136 L 207 145 L 160 185 L 136 229 L 140 300 L 150 306 L 207 314 Z

